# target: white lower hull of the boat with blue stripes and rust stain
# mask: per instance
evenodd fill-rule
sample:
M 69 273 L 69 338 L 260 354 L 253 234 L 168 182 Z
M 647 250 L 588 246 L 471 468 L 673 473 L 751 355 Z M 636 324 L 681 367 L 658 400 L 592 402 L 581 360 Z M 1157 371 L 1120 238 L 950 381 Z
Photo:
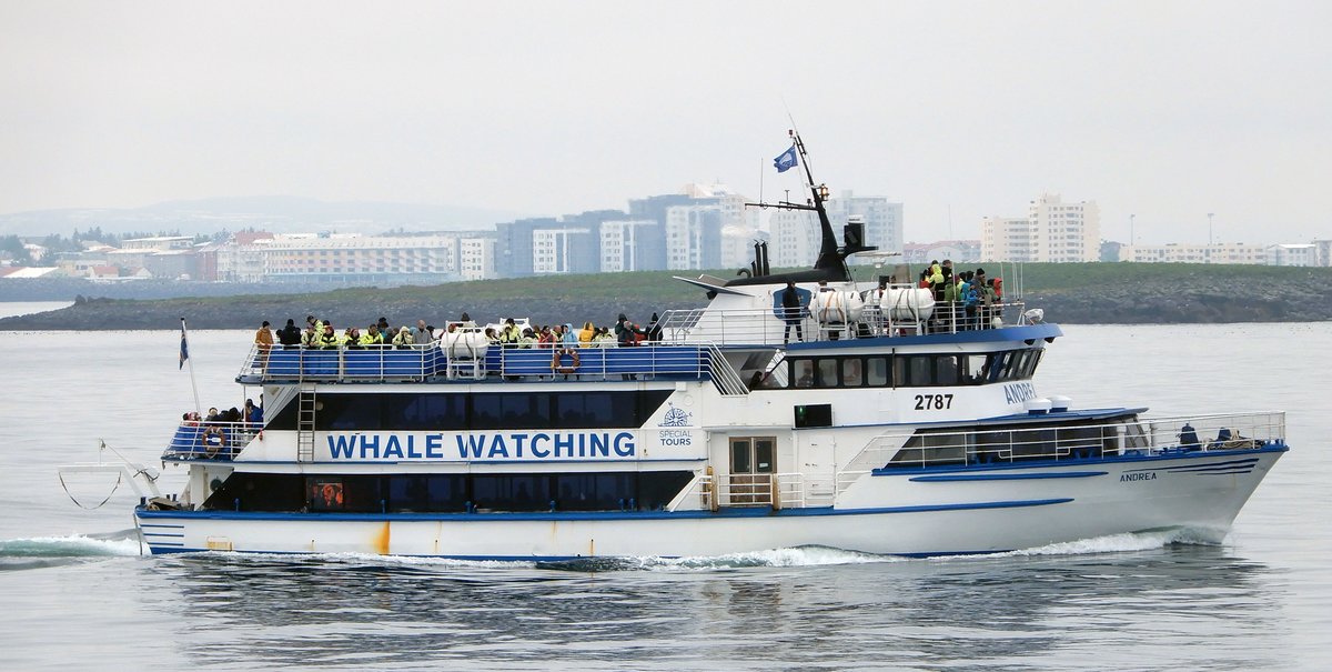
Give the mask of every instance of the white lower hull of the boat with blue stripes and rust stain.
M 718 512 L 276 513 L 147 511 L 153 553 L 370 553 L 492 560 L 723 556 L 823 545 L 934 556 L 1116 533 L 1220 541 L 1285 447 L 1058 467 L 880 469 L 832 507 Z

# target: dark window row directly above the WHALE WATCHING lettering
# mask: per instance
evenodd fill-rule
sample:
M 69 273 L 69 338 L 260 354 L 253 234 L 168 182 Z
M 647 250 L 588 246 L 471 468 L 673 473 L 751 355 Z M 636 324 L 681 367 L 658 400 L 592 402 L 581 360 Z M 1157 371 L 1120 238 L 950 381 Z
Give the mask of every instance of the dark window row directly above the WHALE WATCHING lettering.
M 591 429 L 642 427 L 669 389 L 565 392 L 337 392 L 316 400 L 314 428 L 376 429 Z M 297 400 L 269 423 L 296 429 Z

